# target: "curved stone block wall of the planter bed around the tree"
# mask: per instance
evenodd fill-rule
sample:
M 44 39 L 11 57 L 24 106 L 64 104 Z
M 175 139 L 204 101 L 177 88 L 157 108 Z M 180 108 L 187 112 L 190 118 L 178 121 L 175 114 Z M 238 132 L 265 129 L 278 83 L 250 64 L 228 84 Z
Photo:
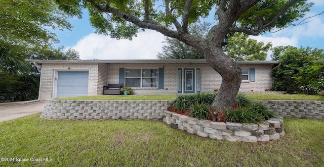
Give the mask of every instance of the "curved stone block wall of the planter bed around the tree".
M 285 135 L 284 120 L 282 118 L 271 118 L 263 124 L 239 124 L 212 122 L 208 120 L 198 120 L 196 118 L 183 116 L 173 112 L 165 112 L 163 119 L 168 125 L 178 126 L 180 130 L 186 130 L 191 134 L 201 137 L 228 141 L 257 142 L 277 140 Z

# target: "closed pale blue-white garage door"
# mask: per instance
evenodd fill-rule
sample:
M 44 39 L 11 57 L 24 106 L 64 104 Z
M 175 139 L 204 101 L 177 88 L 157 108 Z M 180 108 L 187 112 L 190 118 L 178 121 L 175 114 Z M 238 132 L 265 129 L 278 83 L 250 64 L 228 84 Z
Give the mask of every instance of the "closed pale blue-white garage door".
M 58 72 L 56 97 L 88 95 L 89 72 Z

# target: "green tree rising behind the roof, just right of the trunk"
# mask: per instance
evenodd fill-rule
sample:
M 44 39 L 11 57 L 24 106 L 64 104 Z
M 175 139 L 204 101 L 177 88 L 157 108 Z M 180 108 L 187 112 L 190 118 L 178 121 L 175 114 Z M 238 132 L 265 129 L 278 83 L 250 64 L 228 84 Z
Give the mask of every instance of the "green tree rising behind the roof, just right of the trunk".
M 265 45 L 263 42 L 250 39 L 248 34 L 238 32 L 228 37 L 224 51 L 235 61 L 264 61 L 271 46 L 271 43 Z

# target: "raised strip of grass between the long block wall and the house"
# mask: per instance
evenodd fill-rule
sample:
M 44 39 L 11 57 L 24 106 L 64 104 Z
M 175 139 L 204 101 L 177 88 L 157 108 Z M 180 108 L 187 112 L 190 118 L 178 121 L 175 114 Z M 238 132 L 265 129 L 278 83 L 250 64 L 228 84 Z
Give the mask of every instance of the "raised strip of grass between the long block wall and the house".
M 177 95 L 98 95 L 62 97 L 59 100 L 172 100 Z M 317 100 L 324 101 L 324 96 L 305 94 L 247 94 L 255 100 Z

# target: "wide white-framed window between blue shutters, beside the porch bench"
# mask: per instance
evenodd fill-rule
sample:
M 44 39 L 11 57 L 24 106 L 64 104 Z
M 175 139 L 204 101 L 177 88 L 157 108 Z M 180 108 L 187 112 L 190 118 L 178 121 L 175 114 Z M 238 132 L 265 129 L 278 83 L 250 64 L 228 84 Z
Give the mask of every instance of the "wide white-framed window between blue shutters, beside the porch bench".
M 158 69 L 126 69 L 125 86 L 157 87 Z

